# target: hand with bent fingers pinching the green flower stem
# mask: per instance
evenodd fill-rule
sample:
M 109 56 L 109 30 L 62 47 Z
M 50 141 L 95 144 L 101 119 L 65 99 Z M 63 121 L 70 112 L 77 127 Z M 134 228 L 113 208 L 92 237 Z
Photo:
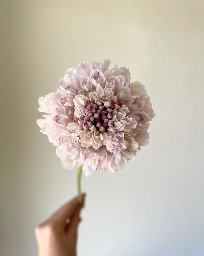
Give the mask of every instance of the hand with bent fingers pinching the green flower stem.
M 76 196 L 35 228 L 38 256 L 76 256 L 77 227 L 84 205 Z M 67 223 L 69 220 L 69 223 Z

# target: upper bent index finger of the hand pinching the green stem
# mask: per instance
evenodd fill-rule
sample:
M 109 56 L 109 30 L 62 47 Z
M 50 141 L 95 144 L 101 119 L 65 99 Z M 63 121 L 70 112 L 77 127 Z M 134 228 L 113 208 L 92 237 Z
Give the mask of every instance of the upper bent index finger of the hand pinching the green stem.
M 82 198 L 84 198 L 84 196 L 85 194 L 82 195 Z M 59 208 L 48 221 L 56 224 L 58 227 L 64 227 L 66 220 L 68 218 L 71 219 L 81 206 L 82 204 L 78 202 L 78 196 L 76 196 L 65 205 L 62 205 L 62 207 Z

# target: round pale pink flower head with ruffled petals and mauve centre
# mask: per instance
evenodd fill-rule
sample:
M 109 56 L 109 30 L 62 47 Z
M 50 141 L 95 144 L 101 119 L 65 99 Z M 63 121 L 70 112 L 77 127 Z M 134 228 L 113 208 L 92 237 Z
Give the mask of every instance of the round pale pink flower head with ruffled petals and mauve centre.
M 130 72 L 84 61 L 69 68 L 55 93 L 39 98 L 40 131 L 56 146 L 64 168 L 121 170 L 148 144 L 149 122 L 155 116 L 145 86 L 130 83 Z

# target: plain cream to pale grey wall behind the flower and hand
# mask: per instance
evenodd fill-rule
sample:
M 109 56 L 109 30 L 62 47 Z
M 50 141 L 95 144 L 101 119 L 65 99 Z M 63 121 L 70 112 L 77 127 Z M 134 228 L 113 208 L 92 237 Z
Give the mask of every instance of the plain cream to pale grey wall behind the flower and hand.
M 36 256 L 34 227 L 77 193 L 39 132 L 38 98 L 68 67 L 111 59 L 145 84 L 150 144 L 83 176 L 79 256 L 204 255 L 204 1 L 1 1 L 0 255 Z

